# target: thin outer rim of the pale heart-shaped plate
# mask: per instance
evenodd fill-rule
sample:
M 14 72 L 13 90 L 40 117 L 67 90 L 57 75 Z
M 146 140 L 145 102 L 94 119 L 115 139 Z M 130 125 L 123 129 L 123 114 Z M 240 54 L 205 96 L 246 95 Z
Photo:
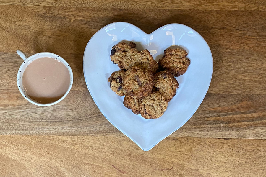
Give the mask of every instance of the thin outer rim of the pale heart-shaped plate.
M 160 29 L 162 29 L 162 28 L 164 28 L 164 27 L 166 27 L 166 26 L 169 26 L 169 25 L 181 25 L 181 26 L 184 26 L 184 27 L 188 27 L 188 28 L 190 28 L 190 29 L 192 29 L 193 30 L 193 32 L 195 32 L 197 35 L 199 35 L 202 39 L 203 39 L 203 41 L 207 44 L 207 46 L 208 46 L 208 49 L 209 49 L 209 51 L 210 51 L 210 55 L 211 55 L 211 60 L 212 60 L 212 73 L 211 73 L 211 77 L 210 77 L 210 81 L 209 81 L 209 85 L 208 85 L 208 87 L 207 87 L 207 89 L 206 89 L 206 91 L 205 91 L 205 94 L 204 94 L 204 97 L 203 97 L 203 99 L 200 101 L 200 103 L 198 104 L 198 106 L 197 106 L 197 109 L 195 109 L 195 111 L 189 116 L 189 118 L 188 119 L 186 119 L 182 124 L 181 124 L 181 126 L 179 126 L 179 127 L 177 127 L 172 133 L 170 133 L 170 134 L 168 134 L 168 135 L 166 135 L 166 136 L 164 136 L 162 139 L 160 139 L 160 140 L 158 140 L 154 145 L 152 145 L 150 148 L 148 148 L 148 149 L 144 149 L 144 148 L 142 148 L 136 141 L 134 141 L 129 135 L 127 135 L 127 133 L 125 133 L 125 132 L 123 132 L 123 131 L 121 131 L 118 127 L 116 127 L 107 117 L 106 117 L 106 115 L 102 112 L 102 110 L 99 108 L 99 106 L 98 106 L 98 104 L 97 104 L 97 102 L 95 101 L 95 99 L 94 99 L 94 97 L 93 97 L 93 95 L 92 95 L 92 93 L 91 93 L 91 91 L 90 91 L 90 88 L 89 88 L 89 86 L 88 86 L 88 83 L 87 83 L 87 79 L 86 79 L 86 76 L 85 76 L 85 66 L 84 66 L 84 60 L 85 60 L 85 53 L 86 53 L 86 50 L 87 50 L 87 47 L 88 47 L 88 44 L 90 43 L 90 41 L 93 39 L 93 37 L 98 33 L 98 32 L 100 32 L 102 29 L 104 29 L 104 28 L 106 28 L 107 26 L 109 26 L 109 25 L 111 25 L 111 24 L 116 24 L 116 23 L 124 23 L 124 24 L 128 24 L 128 25 L 131 25 L 131 26 L 133 26 L 133 27 L 135 27 L 135 28 L 137 28 L 138 30 L 140 30 L 141 32 L 143 32 L 145 35 L 151 35 L 151 34 L 153 34 L 155 31 L 157 31 L 157 30 L 160 30 Z M 208 92 L 208 90 L 209 90 L 209 87 L 210 87 L 210 83 L 211 83 L 211 80 L 212 80 L 212 77 L 213 77 L 213 55 L 212 55 L 212 52 L 211 52 L 211 50 L 210 50 L 210 47 L 209 47 L 209 45 L 208 45 L 208 43 L 206 42 L 206 40 L 197 32 L 197 31 L 195 31 L 193 28 L 191 28 L 191 27 L 189 27 L 189 26 L 186 26 L 186 25 L 184 25 L 184 24 L 179 24 L 179 23 L 170 23 L 170 24 L 166 24 L 166 25 L 163 25 L 162 27 L 159 27 L 159 28 L 157 28 L 156 30 L 154 30 L 153 32 L 151 32 L 151 33 L 149 33 L 149 34 L 147 34 L 147 33 L 145 33 L 143 30 L 141 30 L 139 27 L 137 27 L 137 26 L 135 26 L 134 24 L 131 24 L 131 23 L 128 23 L 128 22 L 113 22 L 113 23 L 110 23 L 110 24 L 107 24 L 107 25 L 105 25 L 104 27 L 102 27 L 100 30 L 98 30 L 91 38 L 90 38 L 90 40 L 88 41 L 88 43 L 87 43 L 87 45 L 86 45 L 86 47 L 85 47 L 85 50 L 84 50 L 84 54 L 83 54 L 83 62 L 82 62 L 82 65 L 83 65 L 83 75 L 84 75 L 84 79 L 85 79 L 85 83 L 86 83 L 86 86 L 87 86 L 87 89 L 89 90 L 89 92 L 90 92 L 90 96 L 92 97 L 92 99 L 93 99 L 93 101 L 95 102 L 95 104 L 96 104 L 96 106 L 98 107 L 98 109 L 100 110 L 100 112 L 103 114 L 103 116 L 114 126 L 114 127 L 116 127 L 116 129 L 117 130 L 119 130 L 120 132 L 122 132 L 124 135 L 126 135 L 130 140 L 132 140 L 137 146 L 139 146 L 143 151 L 149 151 L 149 150 L 151 150 L 152 148 L 154 148 L 159 142 L 161 142 L 162 140 L 164 140 L 166 137 L 168 137 L 169 135 L 171 135 L 171 134 L 173 134 L 174 132 L 176 132 L 179 128 L 181 128 L 194 114 L 195 114 L 195 112 L 198 110 L 198 108 L 200 107 L 200 105 L 201 105 L 201 103 L 202 103 L 202 101 L 204 100 L 204 98 L 205 98 L 205 96 L 206 96 L 206 94 L 207 94 L 207 92 Z

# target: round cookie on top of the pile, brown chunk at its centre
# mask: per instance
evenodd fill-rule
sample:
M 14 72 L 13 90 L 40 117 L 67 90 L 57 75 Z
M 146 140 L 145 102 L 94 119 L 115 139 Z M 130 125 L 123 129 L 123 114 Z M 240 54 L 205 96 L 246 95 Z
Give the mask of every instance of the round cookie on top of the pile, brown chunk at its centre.
M 134 98 L 142 98 L 153 89 L 153 73 L 139 67 L 132 67 L 125 72 L 124 90 Z

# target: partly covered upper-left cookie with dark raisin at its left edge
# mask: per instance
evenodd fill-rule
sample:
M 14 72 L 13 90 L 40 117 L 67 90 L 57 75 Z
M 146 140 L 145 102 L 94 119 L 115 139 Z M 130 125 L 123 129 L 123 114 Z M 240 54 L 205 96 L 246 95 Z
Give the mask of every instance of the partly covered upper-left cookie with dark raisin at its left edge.
M 116 44 L 112 47 L 111 50 L 111 61 L 113 64 L 118 64 L 118 67 L 120 69 L 125 69 L 123 65 L 123 59 L 126 56 L 126 53 L 129 49 L 135 48 L 136 44 L 133 42 L 130 42 L 129 44 L 126 44 L 124 42 L 120 44 Z

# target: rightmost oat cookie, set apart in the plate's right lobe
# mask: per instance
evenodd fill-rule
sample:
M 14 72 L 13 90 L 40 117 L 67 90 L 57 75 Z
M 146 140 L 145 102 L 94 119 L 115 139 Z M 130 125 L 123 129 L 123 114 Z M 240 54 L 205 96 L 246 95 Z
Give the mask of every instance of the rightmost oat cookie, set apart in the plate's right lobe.
M 163 58 L 159 60 L 160 69 L 169 70 L 175 77 L 183 75 L 190 65 L 186 56 L 187 52 L 183 49 L 166 49 Z

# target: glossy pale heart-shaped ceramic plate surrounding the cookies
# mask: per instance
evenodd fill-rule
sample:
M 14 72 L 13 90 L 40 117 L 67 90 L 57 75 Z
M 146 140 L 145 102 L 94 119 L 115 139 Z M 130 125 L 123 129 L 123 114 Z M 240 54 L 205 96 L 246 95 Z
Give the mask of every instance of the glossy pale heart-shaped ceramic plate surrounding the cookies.
M 117 65 L 110 60 L 113 45 L 132 41 L 138 50 L 148 49 L 158 62 L 163 51 L 178 45 L 188 52 L 191 64 L 187 72 L 177 77 L 179 88 L 168 103 L 166 112 L 158 119 L 144 119 L 123 105 L 107 79 Z M 100 29 L 90 39 L 84 52 L 83 71 L 87 87 L 96 105 L 118 130 L 148 151 L 184 125 L 204 99 L 213 73 L 213 59 L 207 42 L 192 28 L 183 24 L 168 24 L 151 34 L 138 27 L 116 22 Z

